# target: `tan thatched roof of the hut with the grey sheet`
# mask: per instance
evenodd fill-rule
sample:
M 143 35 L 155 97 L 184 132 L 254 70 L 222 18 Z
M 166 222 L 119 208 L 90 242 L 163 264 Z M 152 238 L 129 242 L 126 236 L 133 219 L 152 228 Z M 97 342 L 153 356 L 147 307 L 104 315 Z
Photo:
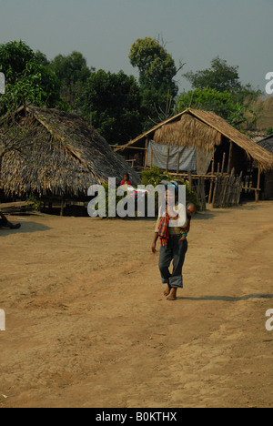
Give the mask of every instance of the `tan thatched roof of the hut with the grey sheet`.
M 197 147 L 205 152 L 220 145 L 222 137 L 227 137 L 253 158 L 262 170 L 273 168 L 273 155 L 211 111 L 187 108 L 116 148 L 116 152 L 122 153 L 130 147 L 144 147 L 147 137 L 160 144 Z

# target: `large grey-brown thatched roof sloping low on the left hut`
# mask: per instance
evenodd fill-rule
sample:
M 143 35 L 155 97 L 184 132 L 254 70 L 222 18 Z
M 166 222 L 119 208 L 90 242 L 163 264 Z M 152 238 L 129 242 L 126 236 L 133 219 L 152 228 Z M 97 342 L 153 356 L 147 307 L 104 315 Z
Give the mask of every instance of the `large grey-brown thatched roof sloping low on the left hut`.
M 76 114 L 21 107 L 14 119 L 0 122 L 0 153 L 13 135 L 15 148 L 5 153 L 1 167 L 5 195 L 86 197 L 91 185 L 107 183 L 108 177 L 119 182 L 125 173 L 139 182 L 124 158 Z

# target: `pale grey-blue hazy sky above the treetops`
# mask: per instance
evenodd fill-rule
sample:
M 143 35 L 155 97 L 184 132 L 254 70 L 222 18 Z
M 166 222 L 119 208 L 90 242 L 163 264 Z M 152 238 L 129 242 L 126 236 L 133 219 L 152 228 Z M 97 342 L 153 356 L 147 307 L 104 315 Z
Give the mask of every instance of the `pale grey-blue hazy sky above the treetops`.
M 166 43 L 182 76 L 216 56 L 238 66 L 243 84 L 265 93 L 273 72 L 273 0 L 0 0 L 0 45 L 23 40 L 48 59 L 81 52 L 88 66 L 138 76 L 130 47 L 147 36 Z

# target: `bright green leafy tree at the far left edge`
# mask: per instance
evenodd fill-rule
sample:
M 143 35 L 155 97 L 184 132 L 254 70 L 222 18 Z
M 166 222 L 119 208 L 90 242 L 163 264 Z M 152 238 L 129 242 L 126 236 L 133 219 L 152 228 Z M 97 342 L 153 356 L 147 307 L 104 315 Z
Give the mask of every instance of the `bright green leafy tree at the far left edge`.
M 6 82 L 0 115 L 25 102 L 35 106 L 58 105 L 60 97 L 56 74 L 42 65 L 39 55 L 35 56 L 22 41 L 0 46 L 0 71 L 5 74 Z

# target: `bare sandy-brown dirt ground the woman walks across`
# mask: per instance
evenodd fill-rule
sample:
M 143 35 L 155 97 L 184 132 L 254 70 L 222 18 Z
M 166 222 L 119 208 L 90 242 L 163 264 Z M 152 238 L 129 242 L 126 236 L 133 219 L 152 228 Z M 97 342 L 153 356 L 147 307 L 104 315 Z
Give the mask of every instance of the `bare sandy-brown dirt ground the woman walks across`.
M 197 214 L 176 301 L 152 220 L 0 229 L 0 407 L 272 406 L 272 217 L 272 201 Z

